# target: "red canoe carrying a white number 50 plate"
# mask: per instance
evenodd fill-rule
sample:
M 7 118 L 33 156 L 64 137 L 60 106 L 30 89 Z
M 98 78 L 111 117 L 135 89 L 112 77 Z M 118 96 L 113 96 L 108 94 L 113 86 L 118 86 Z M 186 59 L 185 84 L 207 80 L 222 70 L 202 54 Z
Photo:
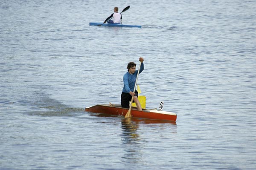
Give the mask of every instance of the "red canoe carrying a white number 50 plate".
M 102 113 L 108 115 L 122 115 L 125 116 L 129 109 L 122 107 L 114 107 L 107 104 L 97 104 L 92 107 L 86 107 L 86 112 Z M 167 120 L 176 122 L 177 114 L 173 112 L 159 111 L 157 109 L 131 109 L 131 115 L 134 118 L 146 118 L 155 120 Z

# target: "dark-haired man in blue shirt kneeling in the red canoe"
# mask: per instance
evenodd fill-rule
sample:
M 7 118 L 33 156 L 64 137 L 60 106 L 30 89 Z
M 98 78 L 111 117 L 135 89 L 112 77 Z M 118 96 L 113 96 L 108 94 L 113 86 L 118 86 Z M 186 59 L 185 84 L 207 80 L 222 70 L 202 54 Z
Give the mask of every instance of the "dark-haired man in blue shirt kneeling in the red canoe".
M 139 58 L 139 61 L 141 61 L 140 72 L 139 72 L 140 74 L 144 70 L 144 64 L 143 64 L 144 59 L 141 57 Z M 138 99 L 138 92 L 137 90 L 135 90 L 135 93 L 133 92 L 139 70 L 136 70 L 136 63 L 134 62 L 128 63 L 127 69 L 128 69 L 128 72 L 126 72 L 123 77 L 124 87 L 121 94 L 121 105 L 124 108 L 129 108 L 131 98 L 132 96 L 134 96 L 133 101 L 136 103 L 137 109 L 142 110 L 140 101 Z

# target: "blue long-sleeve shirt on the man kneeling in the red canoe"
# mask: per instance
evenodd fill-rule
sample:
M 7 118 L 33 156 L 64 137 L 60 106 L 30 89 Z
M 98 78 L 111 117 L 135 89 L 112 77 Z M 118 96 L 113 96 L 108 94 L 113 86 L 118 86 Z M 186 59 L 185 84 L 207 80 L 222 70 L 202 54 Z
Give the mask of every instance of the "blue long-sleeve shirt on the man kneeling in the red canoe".
M 144 70 L 144 64 L 141 63 L 140 66 L 140 72 L 139 74 Z M 124 87 L 122 92 L 129 93 L 134 91 L 134 86 L 137 78 L 138 70 L 135 71 L 134 74 L 130 74 L 129 72 L 126 72 L 123 78 L 124 81 Z

